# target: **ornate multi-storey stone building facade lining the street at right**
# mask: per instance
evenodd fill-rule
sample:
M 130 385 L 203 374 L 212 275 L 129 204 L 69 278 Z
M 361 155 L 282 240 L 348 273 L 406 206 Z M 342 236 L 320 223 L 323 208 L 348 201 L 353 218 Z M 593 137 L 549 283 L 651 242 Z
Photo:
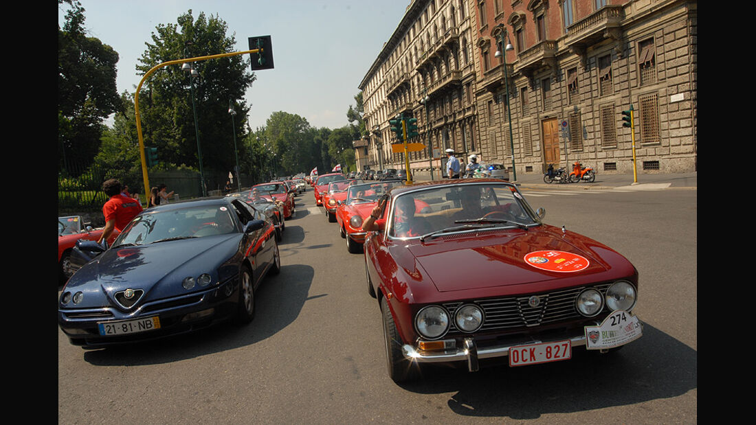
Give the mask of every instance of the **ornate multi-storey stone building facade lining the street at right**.
M 404 112 L 436 152 L 510 175 L 575 161 L 627 174 L 634 156 L 639 173 L 696 171 L 696 38 L 697 2 L 414 0 L 360 85 L 366 163 L 404 165 L 388 124 Z M 431 153 L 410 154 L 416 176 L 439 177 Z

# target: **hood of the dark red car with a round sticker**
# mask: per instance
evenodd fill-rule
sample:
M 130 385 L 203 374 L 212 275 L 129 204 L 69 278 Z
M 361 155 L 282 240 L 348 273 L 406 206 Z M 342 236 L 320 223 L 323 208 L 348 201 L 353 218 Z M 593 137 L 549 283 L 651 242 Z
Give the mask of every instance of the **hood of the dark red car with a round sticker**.
M 440 292 L 495 288 L 514 294 L 523 291 L 522 285 L 531 285 L 528 291 L 546 291 L 634 273 L 632 264 L 606 245 L 577 233 L 562 234 L 553 226 L 413 241 L 404 250 L 411 256 L 402 260 L 404 269 L 420 271 Z M 569 273 L 541 269 L 526 260 L 538 251 L 577 254 L 587 264 Z

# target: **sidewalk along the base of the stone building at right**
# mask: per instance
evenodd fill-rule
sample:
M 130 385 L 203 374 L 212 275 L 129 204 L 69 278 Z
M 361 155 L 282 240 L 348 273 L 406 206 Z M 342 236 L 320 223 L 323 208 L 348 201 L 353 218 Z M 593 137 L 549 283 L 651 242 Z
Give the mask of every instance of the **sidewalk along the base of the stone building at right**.
M 510 174 L 510 178 L 513 175 Z M 417 178 L 415 181 L 423 181 L 429 179 Z M 535 173 L 518 173 L 517 181 L 515 183 L 522 184 L 523 186 L 547 186 L 547 187 L 581 187 L 583 189 L 614 189 L 622 186 L 631 186 L 635 189 L 698 189 L 698 173 L 696 171 L 690 173 L 677 173 L 677 174 L 637 174 L 637 183 L 634 182 L 633 174 L 602 174 L 596 173 L 596 180 L 593 183 L 544 183 L 543 174 Z

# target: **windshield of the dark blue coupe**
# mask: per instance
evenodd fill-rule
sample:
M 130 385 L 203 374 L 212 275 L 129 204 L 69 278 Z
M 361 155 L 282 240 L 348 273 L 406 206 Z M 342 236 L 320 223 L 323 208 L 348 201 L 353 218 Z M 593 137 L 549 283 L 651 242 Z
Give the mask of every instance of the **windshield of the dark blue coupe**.
M 126 226 L 113 246 L 235 233 L 230 213 L 226 205 L 202 205 L 143 214 Z

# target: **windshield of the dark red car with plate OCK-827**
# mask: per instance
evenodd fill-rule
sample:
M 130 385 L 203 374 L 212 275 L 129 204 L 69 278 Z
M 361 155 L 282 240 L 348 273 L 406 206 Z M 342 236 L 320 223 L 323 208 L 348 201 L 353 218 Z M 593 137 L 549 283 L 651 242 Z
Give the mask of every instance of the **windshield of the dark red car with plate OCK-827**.
M 538 223 L 519 192 L 498 183 L 420 189 L 397 196 L 392 205 L 386 229 L 395 238 Z

